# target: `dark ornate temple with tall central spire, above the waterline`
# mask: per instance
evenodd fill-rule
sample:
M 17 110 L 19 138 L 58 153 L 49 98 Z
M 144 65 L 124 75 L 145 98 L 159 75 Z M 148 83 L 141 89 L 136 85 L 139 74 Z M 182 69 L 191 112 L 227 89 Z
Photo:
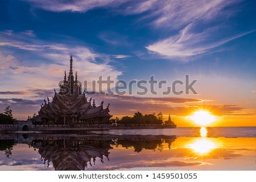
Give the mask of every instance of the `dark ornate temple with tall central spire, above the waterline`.
M 74 77 L 72 56 L 70 57 L 70 69 L 67 77 L 66 71 L 64 73 L 64 81 L 59 85 L 59 92 L 55 91 L 52 101 L 48 97 L 44 99 L 44 104 L 41 105 L 38 117 L 40 120 L 46 122 L 53 122 L 52 124 L 76 124 L 77 121 L 86 121 L 89 124 L 104 124 L 109 121 L 112 115 L 109 115 L 108 107 L 101 105 L 96 107 L 95 100 L 91 104 L 92 98 L 87 100 L 85 92 L 81 91 L 81 83 L 77 81 L 77 72 Z

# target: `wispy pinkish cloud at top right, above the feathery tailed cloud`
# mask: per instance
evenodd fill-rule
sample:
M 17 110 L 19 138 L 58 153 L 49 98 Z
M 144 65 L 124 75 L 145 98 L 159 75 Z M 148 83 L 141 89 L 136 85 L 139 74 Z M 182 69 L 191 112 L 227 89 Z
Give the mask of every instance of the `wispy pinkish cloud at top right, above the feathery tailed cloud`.
M 155 3 L 155 1 L 150 1 L 150 9 L 154 9 L 148 15 L 148 18 L 154 17 L 153 24 L 155 27 L 159 28 L 180 28 L 184 25 L 190 23 L 195 23 L 199 21 L 209 21 L 220 14 L 224 14 L 225 7 L 228 7 L 234 3 L 240 1 L 161 1 L 161 3 Z M 228 13 L 228 12 L 226 12 Z

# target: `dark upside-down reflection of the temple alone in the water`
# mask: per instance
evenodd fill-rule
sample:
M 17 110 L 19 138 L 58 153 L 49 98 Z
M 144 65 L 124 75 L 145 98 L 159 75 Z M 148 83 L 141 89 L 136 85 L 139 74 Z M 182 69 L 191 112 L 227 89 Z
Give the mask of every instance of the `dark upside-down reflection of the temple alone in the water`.
M 110 143 L 108 141 L 84 140 L 70 138 L 47 140 L 33 140 L 31 146 L 38 148 L 44 163 L 52 162 L 55 170 L 84 170 L 88 164 L 92 166 L 99 158 L 108 159 Z

